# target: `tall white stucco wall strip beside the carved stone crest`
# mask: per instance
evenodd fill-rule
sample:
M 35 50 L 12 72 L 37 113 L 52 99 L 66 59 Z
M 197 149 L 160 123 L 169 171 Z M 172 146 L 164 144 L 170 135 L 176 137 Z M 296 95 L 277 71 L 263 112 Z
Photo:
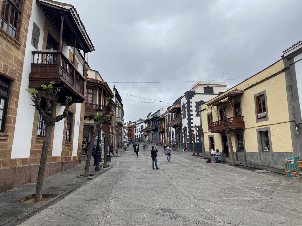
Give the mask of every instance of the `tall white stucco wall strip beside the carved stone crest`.
M 35 107 L 31 105 L 33 104 L 33 101 L 31 100 L 30 94 L 26 93 L 24 90 L 25 88 L 28 88 L 28 74 L 31 72 L 31 63 L 33 58 L 31 52 L 37 51 L 34 46 L 31 45 L 31 32 L 33 30 L 34 22 L 40 28 L 40 41 L 38 44 L 38 50 L 40 50 L 42 49 L 44 36 L 44 14 L 36 3 L 33 3 L 32 13 L 28 25 L 28 36 L 26 40 L 27 44 L 24 56 L 23 73 L 14 131 L 14 141 L 11 151 L 12 159 L 28 158 L 31 151 L 31 136 L 33 131 Z

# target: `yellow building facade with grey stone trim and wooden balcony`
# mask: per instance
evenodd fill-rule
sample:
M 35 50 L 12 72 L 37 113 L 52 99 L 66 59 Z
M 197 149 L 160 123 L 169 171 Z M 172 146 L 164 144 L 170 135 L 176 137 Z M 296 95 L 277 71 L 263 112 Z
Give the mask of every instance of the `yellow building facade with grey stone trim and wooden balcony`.
M 289 76 L 289 67 L 281 59 L 225 93 L 199 106 L 204 131 L 205 151 L 219 149 L 230 156 L 226 139 L 228 123 L 235 160 L 284 168 L 284 160 L 300 156 L 296 133 L 298 114 L 294 108 L 297 86 Z

